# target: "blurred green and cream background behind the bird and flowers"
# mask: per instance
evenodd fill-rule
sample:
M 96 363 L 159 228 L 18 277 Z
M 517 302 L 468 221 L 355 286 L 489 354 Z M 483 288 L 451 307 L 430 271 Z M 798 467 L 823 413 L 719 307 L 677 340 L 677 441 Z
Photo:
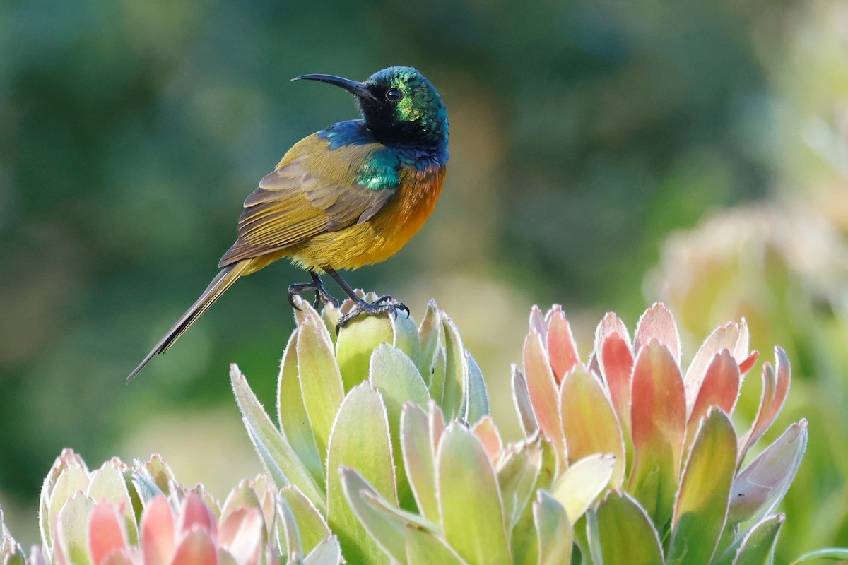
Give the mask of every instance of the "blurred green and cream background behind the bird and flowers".
M 533 303 L 564 304 L 583 356 L 607 310 L 633 328 L 666 301 L 684 358 L 745 316 L 762 358 L 779 344 L 793 362 L 770 437 L 811 421 L 778 563 L 848 545 L 846 60 L 845 2 L 3 0 L 7 521 L 36 540 L 63 446 L 95 467 L 159 451 L 219 496 L 259 471 L 227 363 L 272 402 L 302 272 L 240 281 L 124 377 L 215 274 L 259 178 L 355 117 L 342 91 L 289 79 L 410 64 L 449 108 L 446 186 L 403 252 L 349 281 L 419 318 L 435 297 L 514 435 Z

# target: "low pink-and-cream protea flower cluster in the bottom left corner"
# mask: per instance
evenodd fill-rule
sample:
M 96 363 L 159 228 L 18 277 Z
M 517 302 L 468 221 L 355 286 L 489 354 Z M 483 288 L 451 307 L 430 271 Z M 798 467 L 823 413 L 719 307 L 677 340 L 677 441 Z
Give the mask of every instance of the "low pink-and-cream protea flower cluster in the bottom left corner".
M 221 505 L 203 485 L 182 486 L 159 456 L 132 468 L 114 458 L 92 473 L 65 450 L 44 481 L 40 513 L 34 563 L 259 565 L 279 563 L 281 553 L 290 562 L 340 561 L 338 541 L 297 490 L 260 476 Z

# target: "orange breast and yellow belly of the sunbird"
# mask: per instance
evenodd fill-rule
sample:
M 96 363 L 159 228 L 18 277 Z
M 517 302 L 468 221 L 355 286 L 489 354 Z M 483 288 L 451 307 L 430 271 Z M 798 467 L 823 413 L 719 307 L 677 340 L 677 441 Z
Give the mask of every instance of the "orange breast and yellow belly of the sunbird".
M 410 241 L 432 213 L 442 192 L 445 168 L 404 170 L 398 193 L 373 218 L 316 235 L 287 250 L 304 269 L 358 269 L 380 263 Z

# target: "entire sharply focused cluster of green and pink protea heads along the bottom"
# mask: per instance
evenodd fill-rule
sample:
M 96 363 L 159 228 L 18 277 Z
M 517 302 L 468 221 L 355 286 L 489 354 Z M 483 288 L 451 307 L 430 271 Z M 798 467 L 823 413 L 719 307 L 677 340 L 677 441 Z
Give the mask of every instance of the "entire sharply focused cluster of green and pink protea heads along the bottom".
M 371 298 L 368 296 L 367 298 Z M 560 307 L 533 308 L 512 388 L 524 437 L 505 442 L 483 374 L 431 302 L 360 318 L 296 302 L 276 423 L 238 368 L 232 387 L 268 479 L 223 505 L 158 457 L 93 473 L 72 451 L 42 490 L 36 563 L 743 565 L 770 563 L 774 513 L 801 463 L 806 421 L 756 457 L 789 391 L 775 349 L 744 434 L 731 417 L 757 359 L 743 320 L 689 368 L 657 304 L 631 341 L 608 314 L 580 362 Z M 749 459 L 751 459 L 749 461 Z M 3 528 L 3 562 L 22 562 Z M 827 550 L 802 557 L 846 558 Z

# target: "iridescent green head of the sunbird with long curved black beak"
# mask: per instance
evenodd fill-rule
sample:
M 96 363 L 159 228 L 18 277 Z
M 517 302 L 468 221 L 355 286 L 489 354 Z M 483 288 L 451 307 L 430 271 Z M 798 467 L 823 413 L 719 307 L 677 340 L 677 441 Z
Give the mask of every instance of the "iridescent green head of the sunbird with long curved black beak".
M 384 142 L 444 143 L 448 140 L 448 112 L 427 77 L 412 67 L 378 70 L 365 82 L 333 75 L 302 75 L 352 92 L 365 125 Z

